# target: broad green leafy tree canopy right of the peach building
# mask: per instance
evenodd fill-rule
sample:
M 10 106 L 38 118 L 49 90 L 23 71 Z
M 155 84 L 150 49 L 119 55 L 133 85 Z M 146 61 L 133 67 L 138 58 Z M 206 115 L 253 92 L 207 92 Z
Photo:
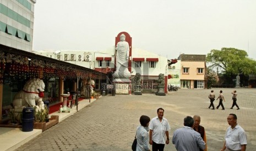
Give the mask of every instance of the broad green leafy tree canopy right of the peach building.
M 207 54 L 206 61 L 211 64 L 210 68 L 220 67 L 227 77 L 256 73 L 256 61 L 249 59 L 246 51 L 236 48 L 213 49 Z

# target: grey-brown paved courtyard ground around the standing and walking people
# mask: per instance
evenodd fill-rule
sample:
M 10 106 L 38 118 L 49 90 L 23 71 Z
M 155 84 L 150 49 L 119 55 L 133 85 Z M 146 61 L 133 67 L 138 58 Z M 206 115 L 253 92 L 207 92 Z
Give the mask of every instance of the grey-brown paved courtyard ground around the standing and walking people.
M 159 107 L 165 109 L 164 117 L 171 125 L 170 138 L 173 131 L 183 126 L 184 117 L 200 115 L 209 151 L 220 150 L 223 146 L 228 127 L 227 115 L 235 113 L 238 124 L 247 132 L 247 150 L 255 150 L 256 89 L 237 89 L 240 110 L 236 107 L 230 109 L 233 89 L 211 90 L 215 90 L 216 96 L 220 90 L 224 91 L 225 110 L 208 109 L 210 90 L 206 89 L 179 89 L 177 92 L 168 92 L 166 96 L 103 96 L 17 150 L 131 150 L 140 115 L 154 118 Z M 215 106 L 218 101 L 214 101 Z M 165 150 L 176 149 L 170 143 L 165 146 Z

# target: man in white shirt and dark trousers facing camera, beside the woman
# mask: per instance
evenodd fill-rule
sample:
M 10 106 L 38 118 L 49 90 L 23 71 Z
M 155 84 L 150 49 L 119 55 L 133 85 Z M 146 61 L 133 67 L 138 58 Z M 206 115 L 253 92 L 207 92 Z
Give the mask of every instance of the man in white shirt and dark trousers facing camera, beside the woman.
M 164 150 L 165 144 L 169 144 L 169 130 L 171 127 L 168 120 L 164 118 L 165 110 L 157 109 L 157 117 L 153 118 L 149 124 L 149 143 L 152 151 Z

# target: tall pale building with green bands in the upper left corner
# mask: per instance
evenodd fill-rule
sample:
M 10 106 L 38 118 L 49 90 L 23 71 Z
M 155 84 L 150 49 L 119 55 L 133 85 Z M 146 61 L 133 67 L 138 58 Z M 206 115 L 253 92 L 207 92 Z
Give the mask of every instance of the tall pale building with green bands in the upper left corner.
M 32 51 L 36 0 L 0 0 L 0 44 Z

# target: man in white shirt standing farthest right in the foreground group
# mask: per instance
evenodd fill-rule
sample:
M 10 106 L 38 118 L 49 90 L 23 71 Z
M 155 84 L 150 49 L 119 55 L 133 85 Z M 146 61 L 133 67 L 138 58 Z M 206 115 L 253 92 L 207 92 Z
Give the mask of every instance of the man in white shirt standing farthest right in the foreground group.
M 221 151 L 226 150 L 246 150 L 247 136 L 243 128 L 237 124 L 236 114 L 229 114 L 227 123 L 230 127 L 227 128 L 224 146 Z

